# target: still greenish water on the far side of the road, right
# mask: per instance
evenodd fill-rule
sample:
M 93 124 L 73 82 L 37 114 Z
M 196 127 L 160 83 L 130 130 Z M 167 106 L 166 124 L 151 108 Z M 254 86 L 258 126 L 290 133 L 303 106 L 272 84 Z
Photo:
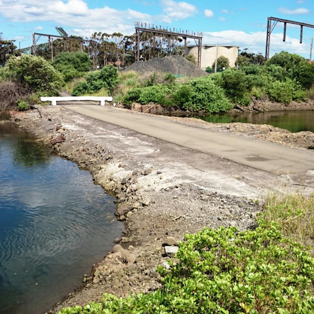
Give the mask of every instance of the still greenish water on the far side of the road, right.
M 253 124 L 269 124 L 274 127 L 289 130 L 291 132 L 314 132 L 313 111 L 272 111 L 254 114 L 211 114 L 211 115 L 186 115 L 190 118 L 198 118 L 207 122 L 232 123 L 243 122 Z

